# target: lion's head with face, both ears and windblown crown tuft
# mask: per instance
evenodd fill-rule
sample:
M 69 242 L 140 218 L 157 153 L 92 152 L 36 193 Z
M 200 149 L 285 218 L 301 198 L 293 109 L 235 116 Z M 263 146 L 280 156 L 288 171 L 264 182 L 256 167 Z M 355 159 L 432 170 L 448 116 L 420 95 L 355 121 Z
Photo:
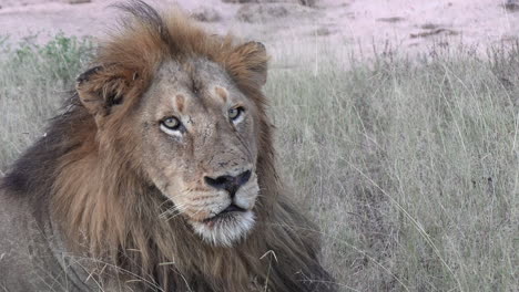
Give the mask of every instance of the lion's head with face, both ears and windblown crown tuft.
M 236 79 L 260 92 L 266 81 L 265 48 L 258 42 L 236 45 L 231 39 L 203 35 L 181 14 L 167 23 L 150 8 L 140 9 L 154 22 L 139 22 L 132 29 L 181 31 L 170 35 L 141 32 L 132 40 L 138 44 L 109 44 L 98 61 L 101 64 L 78 79 L 80 101 L 94 116 L 99 136 L 110 135 L 112 140 L 120 136 L 133 144 L 128 155 L 136 161 L 134 170 L 174 206 L 165 217 L 183 216 L 206 242 L 231 247 L 254 226 L 264 116 L 262 105 L 246 95 Z M 190 43 L 174 44 L 175 36 Z M 152 48 L 156 42 L 163 48 Z M 130 60 L 144 48 L 154 51 Z M 145 54 L 151 60 L 142 60 Z M 113 62 L 124 56 L 129 60 Z M 142 87 L 135 91 L 135 84 Z M 125 103 L 132 103 L 131 109 Z M 121 124 L 124 131 L 114 131 Z

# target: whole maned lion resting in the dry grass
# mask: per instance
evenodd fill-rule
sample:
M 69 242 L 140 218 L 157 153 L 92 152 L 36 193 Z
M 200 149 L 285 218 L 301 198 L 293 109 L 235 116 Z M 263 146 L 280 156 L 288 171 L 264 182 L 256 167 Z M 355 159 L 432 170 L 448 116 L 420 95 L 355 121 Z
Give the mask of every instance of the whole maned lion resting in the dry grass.
M 0 188 L 6 291 L 336 291 L 276 168 L 262 43 L 142 1 Z

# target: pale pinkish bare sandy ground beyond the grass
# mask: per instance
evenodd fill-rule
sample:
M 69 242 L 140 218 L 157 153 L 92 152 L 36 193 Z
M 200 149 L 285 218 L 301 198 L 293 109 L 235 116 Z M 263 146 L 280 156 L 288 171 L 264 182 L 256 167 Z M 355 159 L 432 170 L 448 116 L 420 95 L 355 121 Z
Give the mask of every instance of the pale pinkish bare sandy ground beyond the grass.
M 155 0 L 177 4 L 200 15 L 218 33 L 232 31 L 267 45 L 279 42 L 323 42 L 372 51 L 373 44 L 404 51 L 462 42 L 485 49 L 519 36 L 519 3 L 512 0 L 316 0 L 314 8 L 295 0 L 265 4 L 224 3 L 221 0 Z M 45 41 L 57 32 L 102 38 L 119 12 L 112 0 L 70 4 L 69 0 L 0 0 L 0 35 L 16 43 L 38 34 Z M 228 0 L 226 1 L 228 2 Z M 282 2 L 282 3 L 281 3 Z M 513 1 L 512 1 L 513 2 Z M 511 7 L 513 8 L 513 7 Z

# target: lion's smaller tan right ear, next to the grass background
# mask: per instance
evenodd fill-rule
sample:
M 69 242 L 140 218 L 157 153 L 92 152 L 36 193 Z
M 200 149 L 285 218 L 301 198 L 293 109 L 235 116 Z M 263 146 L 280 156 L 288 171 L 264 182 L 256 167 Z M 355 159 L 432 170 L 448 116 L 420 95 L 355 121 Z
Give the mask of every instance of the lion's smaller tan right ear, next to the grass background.
M 265 45 L 261 42 L 247 42 L 231 53 L 226 66 L 236 79 L 245 79 L 261 87 L 266 83 L 267 62 Z

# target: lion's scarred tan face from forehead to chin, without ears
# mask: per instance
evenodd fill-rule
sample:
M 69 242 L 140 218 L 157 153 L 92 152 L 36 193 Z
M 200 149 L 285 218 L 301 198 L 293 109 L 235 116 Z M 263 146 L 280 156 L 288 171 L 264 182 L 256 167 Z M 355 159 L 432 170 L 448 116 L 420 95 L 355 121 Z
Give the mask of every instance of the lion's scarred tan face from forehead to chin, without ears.
M 143 170 L 172 216 L 213 244 L 243 238 L 260 191 L 255 104 L 220 65 L 193 59 L 162 64 L 139 112 Z

